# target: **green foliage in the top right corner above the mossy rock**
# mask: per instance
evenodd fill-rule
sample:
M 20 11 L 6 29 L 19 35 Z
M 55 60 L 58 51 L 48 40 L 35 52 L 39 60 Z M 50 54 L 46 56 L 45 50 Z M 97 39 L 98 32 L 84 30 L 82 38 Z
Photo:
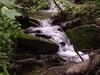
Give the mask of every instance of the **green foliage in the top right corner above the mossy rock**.
M 94 19 L 100 17 L 100 2 L 88 0 L 82 4 L 76 4 L 73 0 L 63 0 L 65 11 L 70 13 L 71 19 L 81 18 L 84 23 L 94 23 Z

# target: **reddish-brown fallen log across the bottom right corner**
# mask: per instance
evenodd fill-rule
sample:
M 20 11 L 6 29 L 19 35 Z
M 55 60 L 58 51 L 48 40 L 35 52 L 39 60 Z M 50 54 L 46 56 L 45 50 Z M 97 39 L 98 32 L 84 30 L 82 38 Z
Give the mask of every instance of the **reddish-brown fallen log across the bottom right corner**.
M 42 75 L 100 75 L 100 51 L 88 61 L 50 68 Z

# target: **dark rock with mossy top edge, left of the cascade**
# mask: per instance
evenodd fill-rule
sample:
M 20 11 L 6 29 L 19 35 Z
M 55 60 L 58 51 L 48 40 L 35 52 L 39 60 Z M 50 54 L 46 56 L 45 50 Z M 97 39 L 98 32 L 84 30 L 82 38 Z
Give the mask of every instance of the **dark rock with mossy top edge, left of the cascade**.
M 16 44 L 17 53 L 52 54 L 58 51 L 58 45 L 54 42 L 27 34 L 21 34 L 17 38 Z

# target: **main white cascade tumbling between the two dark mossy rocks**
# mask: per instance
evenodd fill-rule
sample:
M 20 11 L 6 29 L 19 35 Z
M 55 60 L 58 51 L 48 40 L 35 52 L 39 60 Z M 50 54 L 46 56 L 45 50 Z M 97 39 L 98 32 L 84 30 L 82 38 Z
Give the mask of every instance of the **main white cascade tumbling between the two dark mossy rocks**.
M 29 35 L 35 36 L 36 34 L 50 36 L 49 40 L 59 45 L 58 55 L 66 61 L 82 62 L 81 58 L 77 55 L 73 45 L 60 26 L 52 26 L 49 19 L 41 20 L 40 27 L 30 27 L 27 30 L 32 32 Z M 40 31 L 37 33 L 36 31 Z M 84 60 L 88 60 L 88 54 L 78 52 Z

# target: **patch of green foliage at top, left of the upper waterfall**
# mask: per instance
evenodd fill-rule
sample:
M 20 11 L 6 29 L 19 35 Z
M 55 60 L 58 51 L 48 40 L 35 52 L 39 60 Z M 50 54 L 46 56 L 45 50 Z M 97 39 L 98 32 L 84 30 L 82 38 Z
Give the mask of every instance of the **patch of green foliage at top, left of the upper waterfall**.
M 16 0 L 16 1 L 17 5 L 22 6 L 22 8 L 24 7 L 24 10 L 26 11 L 28 10 L 31 12 L 46 10 L 49 9 L 50 7 L 50 3 L 48 0 L 23 0 L 23 1 Z

